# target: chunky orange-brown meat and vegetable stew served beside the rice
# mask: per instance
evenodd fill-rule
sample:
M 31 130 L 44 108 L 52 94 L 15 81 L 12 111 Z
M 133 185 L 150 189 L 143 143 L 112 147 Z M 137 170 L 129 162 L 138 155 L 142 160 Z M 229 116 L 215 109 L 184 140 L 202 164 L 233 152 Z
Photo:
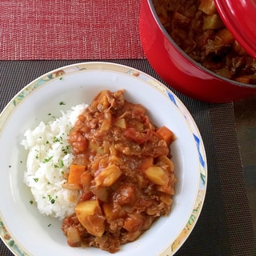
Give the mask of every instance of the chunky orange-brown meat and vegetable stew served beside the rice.
M 74 162 L 64 186 L 81 190 L 75 212 L 62 222 L 70 246 L 114 253 L 170 213 L 174 134 L 154 126 L 146 108 L 124 90 L 101 91 L 69 135 Z

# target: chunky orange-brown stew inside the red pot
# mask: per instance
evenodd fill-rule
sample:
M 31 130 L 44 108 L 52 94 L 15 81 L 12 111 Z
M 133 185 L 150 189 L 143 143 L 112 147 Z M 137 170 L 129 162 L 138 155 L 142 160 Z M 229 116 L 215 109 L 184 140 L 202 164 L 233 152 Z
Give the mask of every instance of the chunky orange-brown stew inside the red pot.
M 226 29 L 214 0 L 153 0 L 153 3 L 170 37 L 195 62 L 222 77 L 256 84 L 256 62 Z

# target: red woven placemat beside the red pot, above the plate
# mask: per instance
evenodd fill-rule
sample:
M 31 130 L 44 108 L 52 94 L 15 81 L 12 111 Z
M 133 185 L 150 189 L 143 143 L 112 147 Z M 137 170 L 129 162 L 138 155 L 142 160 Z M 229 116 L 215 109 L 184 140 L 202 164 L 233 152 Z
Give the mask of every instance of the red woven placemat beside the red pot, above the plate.
M 2 0 L 0 59 L 145 58 L 140 1 Z

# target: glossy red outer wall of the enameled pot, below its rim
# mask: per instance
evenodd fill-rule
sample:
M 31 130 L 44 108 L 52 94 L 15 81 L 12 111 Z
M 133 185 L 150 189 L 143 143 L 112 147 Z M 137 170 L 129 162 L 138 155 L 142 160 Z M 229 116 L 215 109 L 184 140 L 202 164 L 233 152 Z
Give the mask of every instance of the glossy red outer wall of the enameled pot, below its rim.
M 241 9 L 241 6 L 238 7 Z M 219 13 L 220 9 L 222 6 L 218 6 Z M 254 16 L 256 17 L 256 12 Z M 238 101 L 256 95 L 256 86 L 222 78 L 186 55 L 162 26 L 152 0 L 141 1 L 139 33 L 142 48 L 150 65 L 167 84 L 182 94 L 204 102 L 216 103 Z M 254 50 L 252 53 L 255 54 Z

